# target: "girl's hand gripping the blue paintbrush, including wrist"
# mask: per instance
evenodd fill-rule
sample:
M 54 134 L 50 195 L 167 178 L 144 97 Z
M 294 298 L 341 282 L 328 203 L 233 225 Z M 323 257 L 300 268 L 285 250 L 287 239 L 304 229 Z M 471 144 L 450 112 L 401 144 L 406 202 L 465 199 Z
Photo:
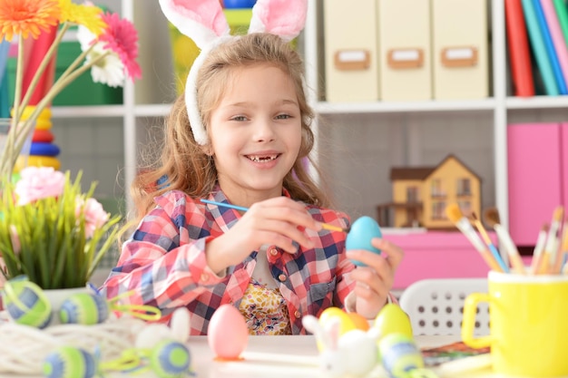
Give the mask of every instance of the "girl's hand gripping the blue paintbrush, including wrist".
M 305 228 L 321 229 L 321 224 L 308 214 L 305 205 L 287 197 L 257 202 L 229 231 L 208 243 L 207 262 L 214 272 L 220 272 L 239 264 L 264 244 L 294 254 L 298 249 L 292 241 L 303 247 L 313 247 L 304 233 Z

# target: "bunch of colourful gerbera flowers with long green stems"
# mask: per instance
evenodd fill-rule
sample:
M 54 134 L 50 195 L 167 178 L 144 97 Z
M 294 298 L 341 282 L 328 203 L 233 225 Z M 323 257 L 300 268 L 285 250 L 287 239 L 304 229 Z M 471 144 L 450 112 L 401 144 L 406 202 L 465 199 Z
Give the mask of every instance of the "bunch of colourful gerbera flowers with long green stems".
M 0 40 L 11 40 L 16 34 L 22 38 L 30 34 L 37 38 L 41 31 L 54 28 L 58 21 L 62 26 L 41 63 L 37 64 L 37 69 L 32 73 L 32 79 L 24 92 L 24 44 L 18 44 L 12 127 L 6 137 L 6 147 L 0 151 L 0 177 L 3 179 L 11 177 L 15 161 L 34 130 L 34 122 L 39 114 L 51 105 L 54 97 L 65 86 L 81 74 L 91 69 L 95 82 L 111 86 L 123 85 L 126 76 L 132 80 L 142 76 L 140 66 L 136 62 L 138 34 L 132 23 L 121 19 L 119 15 L 105 13 L 89 4 L 76 5 L 71 0 L 0 0 Z M 37 96 L 37 93 L 34 93 L 37 83 L 46 74 L 46 67 L 54 58 L 57 46 L 72 24 L 80 24 L 89 29 L 94 35 L 93 41 L 82 44 L 83 53 L 77 56 L 53 85 L 44 85 L 45 92 Z M 39 99 L 30 103 L 33 96 Z M 34 109 L 24 119 L 24 109 L 28 105 L 34 105 Z

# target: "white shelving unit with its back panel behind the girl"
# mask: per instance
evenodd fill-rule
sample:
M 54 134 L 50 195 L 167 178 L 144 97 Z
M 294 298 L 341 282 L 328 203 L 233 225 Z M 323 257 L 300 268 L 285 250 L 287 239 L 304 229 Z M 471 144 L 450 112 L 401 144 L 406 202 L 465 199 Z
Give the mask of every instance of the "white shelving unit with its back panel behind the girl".
M 99 3 L 105 2 L 113 11 L 132 19 L 139 31 L 142 80 L 126 83 L 122 105 L 54 108 L 54 119 L 118 122 L 122 127 L 121 189 L 127 192 L 148 128 L 162 123 L 175 98 L 171 46 L 158 2 Z M 318 114 L 316 158 L 323 176 L 330 178 L 327 185 L 338 208 L 354 218 L 374 217 L 375 206 L 390 200 L 390 167 L 435 165 L 446 153 L 455 152 L 482 176 L 484 206 L 496 206 L 502 222 L 508 224 L 507 122 L 566 121 L 568 96 L 507 97 L 504 4 L 502 0 L 488 2 L 492 97 L 455 102 L 330 103 L 318 101 L 316 90 L 309 92 Z M 308 19 L 301 41 L 311 89 L 318 89 L 323 80 L 318 70 L 322 65 L 319 49 L 323 46 L 323 35 L 318 29 L 321 5 L 322 0 L 308 1 Z M 117 179 L 114 172 L 99 175 L 100 181 Z

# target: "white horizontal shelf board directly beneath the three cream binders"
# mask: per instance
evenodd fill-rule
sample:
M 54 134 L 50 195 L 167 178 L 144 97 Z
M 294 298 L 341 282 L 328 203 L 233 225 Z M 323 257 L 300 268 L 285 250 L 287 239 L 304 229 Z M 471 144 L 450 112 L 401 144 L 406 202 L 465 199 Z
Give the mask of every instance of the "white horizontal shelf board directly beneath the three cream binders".
M 421 102 L 318 102 L 319 114 L 388 113 L 402 111 L 492 111 L 495 99 Z

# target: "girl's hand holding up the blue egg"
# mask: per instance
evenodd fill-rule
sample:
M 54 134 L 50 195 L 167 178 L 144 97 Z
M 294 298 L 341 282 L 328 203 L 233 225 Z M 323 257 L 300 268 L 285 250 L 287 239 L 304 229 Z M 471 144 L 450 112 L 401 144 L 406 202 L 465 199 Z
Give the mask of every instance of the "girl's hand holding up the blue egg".
M 351 272 L 356 282 L 357 314 L 374 319 L 387 304 L 388 293 L 395 281 L 395 272 L 404 257 L 400 247 L 385 239 L 375 237 L 371 240 L 373 247 L 381 249 L 381 254 L 354 249 L 347 251 L 347 257 L 360 261 L 367 267 L 357 267 Z

